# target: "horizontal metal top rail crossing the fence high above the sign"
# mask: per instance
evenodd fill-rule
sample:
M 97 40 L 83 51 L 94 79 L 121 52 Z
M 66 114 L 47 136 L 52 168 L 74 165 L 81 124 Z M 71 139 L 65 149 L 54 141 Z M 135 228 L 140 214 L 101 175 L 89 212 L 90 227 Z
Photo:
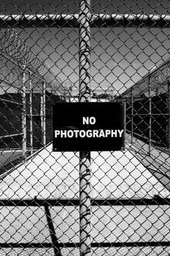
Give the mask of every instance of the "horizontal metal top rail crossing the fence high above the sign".
M 0 28 L 6 27 L 79 27 L 81 14 L 0 15 Z M 165 14 L 90 14 L 91 27 L 170 27 Z

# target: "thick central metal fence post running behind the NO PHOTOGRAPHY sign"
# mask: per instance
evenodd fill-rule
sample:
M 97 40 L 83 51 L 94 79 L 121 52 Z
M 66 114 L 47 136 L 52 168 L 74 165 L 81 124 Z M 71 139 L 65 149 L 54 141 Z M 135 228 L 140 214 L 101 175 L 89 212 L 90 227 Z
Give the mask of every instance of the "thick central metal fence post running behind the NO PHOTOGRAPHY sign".
M 90 0 L 80 0 L 79 102 L 91 101 L 90 90 Z M 80 255 L 91 255 L 90 152 L 80 152 Z

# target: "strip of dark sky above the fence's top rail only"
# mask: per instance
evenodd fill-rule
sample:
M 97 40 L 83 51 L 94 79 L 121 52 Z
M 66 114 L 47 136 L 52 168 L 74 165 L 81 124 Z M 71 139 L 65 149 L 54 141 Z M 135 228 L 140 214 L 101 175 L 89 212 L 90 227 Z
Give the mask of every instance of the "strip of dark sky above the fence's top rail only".
M 79 13 L 79 0 L 1 0 L 1 13 Z M 91 0 L 91 12 L 169 14 L 169 0 Z

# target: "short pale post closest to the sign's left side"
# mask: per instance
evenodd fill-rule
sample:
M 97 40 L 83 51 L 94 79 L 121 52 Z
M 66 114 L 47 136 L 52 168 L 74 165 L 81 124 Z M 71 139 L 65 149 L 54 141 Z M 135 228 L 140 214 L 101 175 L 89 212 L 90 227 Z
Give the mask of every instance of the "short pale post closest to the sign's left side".
M 46 127 L 45 127 L 45 81 L 42 82 L 42 96 L 41 96 L 41 106 L 40 106 L 40 116 L 41 116 L 41 130 L 42 130 L 42 145 L 46 144 Z

